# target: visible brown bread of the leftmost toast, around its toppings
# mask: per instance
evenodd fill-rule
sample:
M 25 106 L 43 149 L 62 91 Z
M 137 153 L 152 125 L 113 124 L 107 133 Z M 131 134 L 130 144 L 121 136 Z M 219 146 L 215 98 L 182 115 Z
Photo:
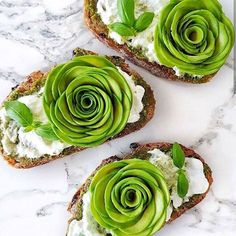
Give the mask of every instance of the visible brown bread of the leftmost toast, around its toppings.
M 95 53 L 77 48 L 74 50 L 73 54 L 74 56 L 81 56 L 81 55 L 89 55 L 89 54 L 91 55 Z M 141 85 L 145 89 L 145 94 L 142 100 L 144 104 L 144 109 L 140 113 L 140 119 L 135 123 L 128 123 L 125 129 L 121 133 L 119 133 L 118 135 L 112 138 L 112 139 L 115 139 L 115 138 L 128 135 L 144 127 L 146 123 L 150 121 L 154 115 L 156 101 L 155 101 L 154 94 L 151 87 L 143 80 L 143 78 L 138 73 L 132 70 L 125 63 L 124 59 L 117 56 L 107 57 L 107 59 L 113 62 L 116 66 L 119 66 L 127 74 L 132 75 L 135 83 Z M 29 95 L 35 91 L 39 91 L 40 88 L 45 84 L 46 78 L 47 78 L 47 73 L 43 73 L 41 71 L 33 72 L 30 76 L 26 78 L 25 81 L 23 81 L 18 86 L 12 88 L 12 92 L 9 94 L 9 96 L 6 98 L 5 101 L 16 100 L 21 96 Z M 2 138 L 2 135 L 0 132 L 0 140 L 1 138 Z M 7 155 L 4 152 L 2 144 L 0 142 L 0 153 L 3 155 L 4 159 L 7 160 L 10 165 L 16 168 L 31 168 L 34 166 L 42 165 L 50 161 L 56 160 L 58 158 L 61 158 L 65 155 L 82 151 L 83 149 L 84 148 L 71 146 L 64 149 L 59 155 L 54 155 L 54 156 L 44 155 L 40 158 L 29 159 L 26 157 Z

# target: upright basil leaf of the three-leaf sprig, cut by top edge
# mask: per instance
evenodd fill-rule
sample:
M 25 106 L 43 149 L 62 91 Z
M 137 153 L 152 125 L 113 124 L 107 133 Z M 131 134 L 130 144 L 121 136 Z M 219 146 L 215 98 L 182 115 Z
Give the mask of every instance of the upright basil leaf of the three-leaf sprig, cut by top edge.
M 121 21 L 128 26 L 133 26 L 135 21 L 134 0 L 118 0 L 117 8 Z

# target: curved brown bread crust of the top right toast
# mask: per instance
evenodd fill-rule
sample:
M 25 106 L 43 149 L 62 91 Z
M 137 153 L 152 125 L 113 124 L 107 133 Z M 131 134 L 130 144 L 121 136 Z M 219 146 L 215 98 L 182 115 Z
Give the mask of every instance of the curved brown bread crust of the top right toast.
M 179 80 L 189 83 L 206 83 L 210 81 L 215 74 L 207 75 L 202 78 L 194 78 L 188 75 L 183 77 L 177 76 L 172 68 L 160 65 L 156 62 L 150 62 L 148 59 L 140 53 L 138 50 L 134 50 L 127 46 L 127 44 L 120 45 L 109 37 L 109 30 L 105 25 L 100 15 L 97 13 L 98 0 L 84 0 L 84 17 L 85 22 L 94 35 L 107 46 L 113 48 L 117 52 L 120 52 L 124 57 L 132 61 L 138 66 L 145 68 L 152 74 L 169 80 Z

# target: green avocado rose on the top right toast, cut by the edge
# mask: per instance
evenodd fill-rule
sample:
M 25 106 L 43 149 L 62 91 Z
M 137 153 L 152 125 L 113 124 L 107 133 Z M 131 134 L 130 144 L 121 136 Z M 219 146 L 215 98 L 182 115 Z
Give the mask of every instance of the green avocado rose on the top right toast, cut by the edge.
M 234 28 L 218 0 L 171 0 L 160 12 L 154 43 L 161 64 L 204 76 L 225 63 Z

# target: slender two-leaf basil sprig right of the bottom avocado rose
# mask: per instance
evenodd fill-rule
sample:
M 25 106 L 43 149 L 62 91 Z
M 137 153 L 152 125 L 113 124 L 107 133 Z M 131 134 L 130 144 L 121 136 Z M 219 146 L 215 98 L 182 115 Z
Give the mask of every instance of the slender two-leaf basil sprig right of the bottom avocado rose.
M 189 181 L 186 176 L 186 172 L 183 170 L 185 163 L 184 151 L 178 143 L 174 143 L 172 146 L 172 159 L 174 165 L 179 168 L 177 178 L 177 193 L 179 197 L 184 198 L 189 190 Z

